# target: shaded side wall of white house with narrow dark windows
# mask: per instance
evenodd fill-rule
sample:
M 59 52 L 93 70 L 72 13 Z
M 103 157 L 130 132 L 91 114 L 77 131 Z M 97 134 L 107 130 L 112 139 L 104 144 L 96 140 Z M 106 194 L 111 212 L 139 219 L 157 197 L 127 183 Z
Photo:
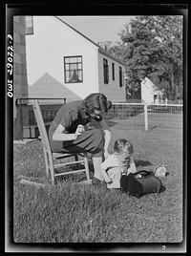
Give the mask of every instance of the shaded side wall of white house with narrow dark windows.
M 103 58 L 108 60 L 109 65 L 109 83 L 104 83 L 103 75 Z M 112 63 L 115 63 L 115 80 L 112 76 Z M 98 83 L 100 93 L 107 96 L 108 99 L 113 102 L 125 101 L 125 85 L 119 87 L 119 71 L 118 68 L 121 67 L 122 71 L 125 72 L 125 66 L 118 63 L 115 59 L 104 55 L 103 53 L 98 53 Z M 124 84 L 124 81 L 123 81 Z

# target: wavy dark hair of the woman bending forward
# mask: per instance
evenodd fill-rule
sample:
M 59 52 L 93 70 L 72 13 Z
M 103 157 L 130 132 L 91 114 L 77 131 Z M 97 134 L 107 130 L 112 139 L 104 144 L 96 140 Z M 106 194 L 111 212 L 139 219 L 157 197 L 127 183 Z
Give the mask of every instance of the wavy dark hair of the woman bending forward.
M 103 94 L 91 94 L 83 100 L 83 109 L 88 114 L 94 113 L 94 109 L 107 113 L 111 108 L 112 101 Z

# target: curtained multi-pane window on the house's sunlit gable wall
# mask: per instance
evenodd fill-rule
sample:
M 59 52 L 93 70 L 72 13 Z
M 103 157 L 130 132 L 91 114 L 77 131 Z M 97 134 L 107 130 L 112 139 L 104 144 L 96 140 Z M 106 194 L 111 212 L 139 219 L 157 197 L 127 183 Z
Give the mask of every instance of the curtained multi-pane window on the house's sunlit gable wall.
M 65 83 L 83 82 L 82 56 L 64 57 L 64 77 Z

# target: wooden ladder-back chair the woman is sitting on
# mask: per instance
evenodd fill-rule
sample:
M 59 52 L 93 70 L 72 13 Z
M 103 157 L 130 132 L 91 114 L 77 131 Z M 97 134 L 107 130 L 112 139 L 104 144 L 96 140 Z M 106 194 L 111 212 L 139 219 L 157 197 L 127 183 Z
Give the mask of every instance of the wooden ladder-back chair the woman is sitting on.
M 37 99 L 32 100 L 32 108 L 34 111 L 34 116 L 36 118 L 38 130 L 39 130 L 39 134 L 40 134 L 40 138 L 41 138 L 41 142 L 42 142 L 42 146 L 43 146 L 43 153 L 44 153 L 44 158 L 45 158 L 47 177 L 50 177 L 50 175 L 51 175 L 52 182 L 54 183 L 54 178 L 57 176 L 85 172 L 87 181 L 90 181 L 90 172 L 89 172 L 87 153 L 77 153 L 77 154 L 76 153 L 70 153 L 70 154 L 53 153 L 51 150 L 50 141 L 48 139 L 47 131 L 45 128 L 45 123 L 44 123 L 42 113 L 40 110 L 40 106 L 39 106 L 39 102 Z M 78 160 L 78 155 L 82 156 L 83 159 Z M 74 160 L 67 161 L 67 162 L 61 162 L 61 163 L 54 163 L 55 160 L 66 159 L 69 157 L 74 157 Z M 67 166 L 70 164 L 79 165 L 79 163 L 84 163 L 85 168 L 81 169 L 81 170 L 55 173 L 56 168 L 60 168 L 60 167 Z

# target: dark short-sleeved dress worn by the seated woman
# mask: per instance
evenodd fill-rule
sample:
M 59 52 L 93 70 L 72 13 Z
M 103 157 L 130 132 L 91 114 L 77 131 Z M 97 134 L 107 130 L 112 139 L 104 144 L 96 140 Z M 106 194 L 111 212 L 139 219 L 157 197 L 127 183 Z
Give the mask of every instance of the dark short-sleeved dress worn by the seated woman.
M 85 114 L 82 108 L 82 100 L 77 100 L 64 104 L 51 123 L 49 128 L 49 139 L 53 152 L 90 152 L 97 153 L 103 149 L 104 133 L 100 129 L 86 130 L 77 139 L 70 141 L 53 140 L 53 133 L 57 126 L 61 124 L 65 131 L 64 133 L 74 134 L 79 124 L 86 125 L 92 120 L 92 117 Z M 102 117 L 95 118 L 101 121 Z

